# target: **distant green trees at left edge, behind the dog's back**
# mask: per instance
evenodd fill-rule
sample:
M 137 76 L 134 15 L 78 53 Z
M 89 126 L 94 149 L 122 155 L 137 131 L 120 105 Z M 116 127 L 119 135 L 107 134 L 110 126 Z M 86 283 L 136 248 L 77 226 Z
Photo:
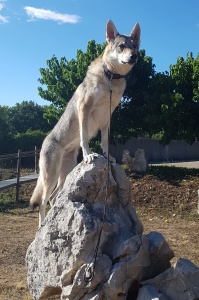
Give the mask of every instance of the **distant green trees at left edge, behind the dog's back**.
M 43 117 L 46 110 L 47 106 L 33 101 L 23 101 L 13 107 L 0 106 L 0 154 L 41 147 L 52 129 L 52 124 Z

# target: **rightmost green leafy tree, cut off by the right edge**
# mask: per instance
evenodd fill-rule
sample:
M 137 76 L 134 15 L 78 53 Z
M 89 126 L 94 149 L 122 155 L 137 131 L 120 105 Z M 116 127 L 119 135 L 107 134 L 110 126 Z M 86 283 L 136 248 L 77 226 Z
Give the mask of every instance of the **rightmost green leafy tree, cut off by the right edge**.
M 185 140 L 192 144 L 199 139 L 199 55 L 189 52 L 170 66 L 173 91 L 164 104 L 163 141 Z

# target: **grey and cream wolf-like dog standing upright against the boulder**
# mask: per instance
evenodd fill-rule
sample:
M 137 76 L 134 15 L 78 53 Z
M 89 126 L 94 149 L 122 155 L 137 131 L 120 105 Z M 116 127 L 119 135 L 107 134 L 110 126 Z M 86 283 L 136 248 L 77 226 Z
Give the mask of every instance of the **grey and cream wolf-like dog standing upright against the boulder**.
M 98 130 L 101 130 L 101 148 L 107 158 L 110 111 L 112 113 L 119 104 L 126 86 L 124 77 L 137 62 L 140 34 L 139 23 L 127 36 L 119 34 L 114 23 L 108 21 L 104 53 L 90 64 L 63 115 L 45 138 L 40 152 L 40 174 L 30 199 L 30 207 L 39 204 L 39 227 L 45 218 L 47 202 L 55 198 L 66 176 L 76 166 L 80 146 L 84 161 L 94 160 L 89 140 Z

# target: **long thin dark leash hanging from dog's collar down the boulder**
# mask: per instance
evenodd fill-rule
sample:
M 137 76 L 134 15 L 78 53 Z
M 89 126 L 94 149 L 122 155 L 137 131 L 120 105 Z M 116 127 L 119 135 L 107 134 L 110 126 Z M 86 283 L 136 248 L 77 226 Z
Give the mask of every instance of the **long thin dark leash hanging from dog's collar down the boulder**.
M 105 71 L 105 74 L 106 74 L 106 71 Z M 107 77 L 109 78 L 109 91 L 110 91 L 110 99 L 109 99 L 110 123 L 109 123 L 109 127 L 108 127 L 108 153 L 107 153 L 106 196 L 105 196 L 105 201 L 104 201 L 104 209 L 103 209 L 103 216 L 102 216 L 102 225 L 101 225 L 101 228 L 100 228 L 100 232 L 99 232 L 97 244 L 96 244 L 96 247 L 95 247 L 95 251 L 93 253 L 93 257 L 92 257 L 90 263 L 88 264 L 88 266 L 86 267 L 86 269 L 84 271 L 84 281 L 86 282 L 86 284 L 88 284 L 89 282 L 91 282 L 93 280 L 93 277 L 94 277 L 95 265 L 96 265 L 96 260 L 97 260 L 97 253 L 98 253 L 98 250 L 99 250 L 100 240 L 101 240 L 101 236 L 102 236 L 102 230 L 104 228 L 105 217 L 106 217 L 106 207 L 107 207 L 107 200 L 108 200 L 108 185 L 109 185 L 109 172 L 110 172 L 110 157 L 109 156 L 110 156 L 110 125 L 111 125 L 112 79 L 114 78 L 114 75 L 119 75 L 119 74 L 112 74 L 109 71 L 109 75 L 110 76 L 107 75 Z M 122 78 L 122 77 L 120 77 L 120 78 Z M 117 78 L 117 79 L 119 79 L 119 78 Z

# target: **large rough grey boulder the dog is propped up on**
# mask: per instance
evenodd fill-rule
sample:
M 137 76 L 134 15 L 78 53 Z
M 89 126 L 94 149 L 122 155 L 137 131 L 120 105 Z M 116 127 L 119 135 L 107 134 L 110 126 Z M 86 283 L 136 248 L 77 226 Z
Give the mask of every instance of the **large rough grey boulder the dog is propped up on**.
M 80 163 L 67 176 L 26 253 L 33 299 L 126 299 L 130 288 L 170 266 L 173 251 L 164 237 L 143 235 L 124 170 L 112 164 L 107 189 L 106 183 L 102 156 Z M 87 282 L 93 265 L 93 280 Z

